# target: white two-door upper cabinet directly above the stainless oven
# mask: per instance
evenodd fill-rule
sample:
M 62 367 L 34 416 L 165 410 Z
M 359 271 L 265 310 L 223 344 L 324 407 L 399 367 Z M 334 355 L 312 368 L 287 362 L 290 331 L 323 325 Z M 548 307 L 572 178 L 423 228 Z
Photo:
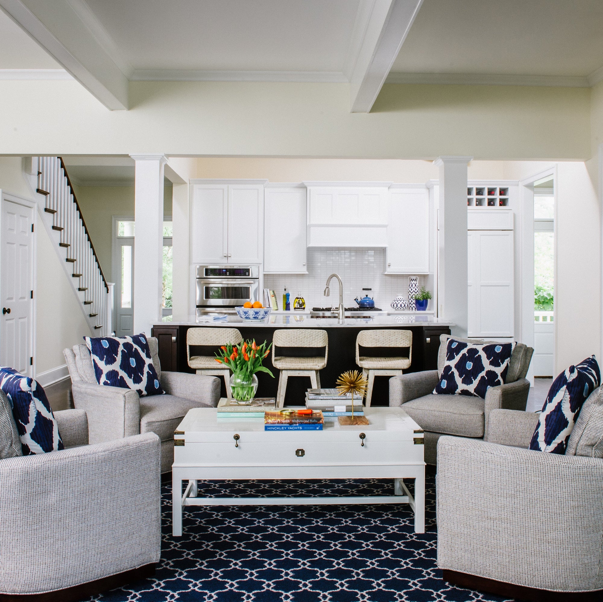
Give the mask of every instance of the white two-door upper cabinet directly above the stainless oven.
M 263 183 L 192 183 L 192 263 L 260 264 L 263 242 Z

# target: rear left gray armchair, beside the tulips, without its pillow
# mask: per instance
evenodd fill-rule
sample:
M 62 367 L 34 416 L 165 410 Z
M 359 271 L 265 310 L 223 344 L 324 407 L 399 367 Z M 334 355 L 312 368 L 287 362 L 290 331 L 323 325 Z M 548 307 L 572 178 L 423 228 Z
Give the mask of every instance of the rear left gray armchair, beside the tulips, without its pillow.
M 162 372 L 157 339 L 148 338 L 153 366 L 166 395 L 140 398 L 136 391 L 99 385 L 86 345 L 64 349 L 71 376 L 74 406 L 86 411 L 90 442 L 112 441 L 138 433 L 156 433 L 161 440 L 161 471 L 174 462 L 174 430 L 192 408 L 215 408 L 220 381 L 215 376 Z

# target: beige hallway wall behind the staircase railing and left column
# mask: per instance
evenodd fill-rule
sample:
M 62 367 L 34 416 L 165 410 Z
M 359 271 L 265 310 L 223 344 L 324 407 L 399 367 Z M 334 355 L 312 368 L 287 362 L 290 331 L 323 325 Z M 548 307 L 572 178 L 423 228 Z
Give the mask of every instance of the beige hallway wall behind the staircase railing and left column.
M 74 184 L 81 212 L 90 232 L 92 244 L 107 281 L 113 280 L 111 267 L 112 216 L 134 215 L 134 185 L 77 186 Z M 172 185 L 163 187 L 163 214 L 172 214 Z

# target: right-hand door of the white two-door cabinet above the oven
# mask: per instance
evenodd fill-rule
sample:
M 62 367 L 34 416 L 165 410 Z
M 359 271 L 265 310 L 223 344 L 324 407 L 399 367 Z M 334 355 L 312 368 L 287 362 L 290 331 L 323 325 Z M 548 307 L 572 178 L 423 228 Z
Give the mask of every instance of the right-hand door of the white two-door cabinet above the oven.
M 264 186 L 228 187 L 228 262 L 261 263 L 264 252 Z

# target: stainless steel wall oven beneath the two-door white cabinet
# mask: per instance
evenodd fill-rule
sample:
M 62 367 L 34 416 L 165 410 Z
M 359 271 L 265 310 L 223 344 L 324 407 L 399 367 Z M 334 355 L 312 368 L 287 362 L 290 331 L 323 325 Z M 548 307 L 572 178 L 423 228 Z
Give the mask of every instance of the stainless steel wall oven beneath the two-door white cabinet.
M 235 314 L 235 307 L 259 300 L 258 265 L 198 265 L 197 315 Z

